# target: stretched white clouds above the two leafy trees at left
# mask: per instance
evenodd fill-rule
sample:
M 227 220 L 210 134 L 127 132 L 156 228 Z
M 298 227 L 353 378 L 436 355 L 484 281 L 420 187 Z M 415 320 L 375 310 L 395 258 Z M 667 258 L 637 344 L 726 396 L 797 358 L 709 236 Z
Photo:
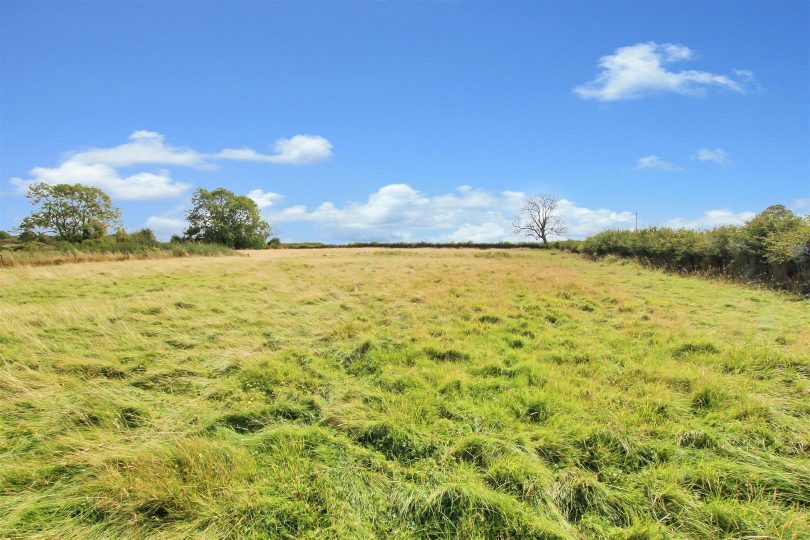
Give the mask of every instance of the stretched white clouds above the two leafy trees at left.
M 279 139 L 276 154 L 264 156 L 272 163 L 312 163 L 332 155 L 332 145 L 323 137 L 296 135 Z M 165 137 L 155 131 L 133 132 L 128 142 L 110 148 L 90 148 L 66 154 L 55 167 L 34 167 L 30 178 L 11 178 L 9 183 L 19 193 L 37 182 L 47 184 L 81 183 L 105 191 L 113 199 L 149 200 L 166 199 L 182 195 L 191 184 L 172 179 L 165 168 L 122 174 L 119 169 L 143 165 L 164 167 L 210 168 L 216 159 L 250 159 L 252 150 L 223 150 L 217 154 L 203 154 L 191 148 L 166 144 Z M 260 155 L 253 152 L 255 155 Z M 239 157 L 241 156 L 241 157 Z M 245 157 L 247 156 L 247 157 Z M 270 194 L 262 195 L 262 204 L 272 203 Z M 270 198 L 268 198 L 270 197 Z

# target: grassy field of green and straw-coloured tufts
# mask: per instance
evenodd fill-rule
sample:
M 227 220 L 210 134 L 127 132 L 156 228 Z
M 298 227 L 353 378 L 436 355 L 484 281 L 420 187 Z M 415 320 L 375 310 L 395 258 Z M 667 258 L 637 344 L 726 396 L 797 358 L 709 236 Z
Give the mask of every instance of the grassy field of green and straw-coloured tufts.
M 273 250 L 3 269 L 0 321 L 0 537 L 810 537 L 807 300 Z

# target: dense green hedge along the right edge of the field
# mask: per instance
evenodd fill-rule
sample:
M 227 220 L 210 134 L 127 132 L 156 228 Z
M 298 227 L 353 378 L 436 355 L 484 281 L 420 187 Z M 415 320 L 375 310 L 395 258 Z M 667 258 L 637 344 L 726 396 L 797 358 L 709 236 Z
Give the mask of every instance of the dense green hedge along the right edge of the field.
M 667 270 L 723 275 L 810 292 L 810 216 L 771 206 L 741 227 L 652 227 L 588 238 L 593 256 L 633 257 Z

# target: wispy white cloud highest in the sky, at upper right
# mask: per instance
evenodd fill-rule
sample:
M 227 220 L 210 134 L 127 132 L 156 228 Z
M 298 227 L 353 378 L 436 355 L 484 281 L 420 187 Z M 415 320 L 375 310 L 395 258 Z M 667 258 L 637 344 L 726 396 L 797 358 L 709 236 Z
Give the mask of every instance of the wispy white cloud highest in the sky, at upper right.
M 744 92 L 754 76 L 748 70 L 733 70 L 733 76 L 708 71 L 669 71 L 667 64 L 693 60 L 695 53 L 683 45 L 655 42 L 636 43 L 616 49 L 599 59 L 596 79 L 577 86 L 574 92 L 584 99 L 618 101 L 639 99 L 662 93 L 702 96 L 708 88 Z

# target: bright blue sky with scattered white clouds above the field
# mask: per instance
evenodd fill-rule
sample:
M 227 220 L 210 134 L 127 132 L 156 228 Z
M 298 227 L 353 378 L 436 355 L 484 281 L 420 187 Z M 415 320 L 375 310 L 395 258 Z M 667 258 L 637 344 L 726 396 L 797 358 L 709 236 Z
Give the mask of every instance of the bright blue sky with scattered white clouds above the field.
M 572 236 L 810 210 L 808 2 L 14 2 L 0 229 L 33 180 L 166 237 L 197 187 L 284 240 Z

